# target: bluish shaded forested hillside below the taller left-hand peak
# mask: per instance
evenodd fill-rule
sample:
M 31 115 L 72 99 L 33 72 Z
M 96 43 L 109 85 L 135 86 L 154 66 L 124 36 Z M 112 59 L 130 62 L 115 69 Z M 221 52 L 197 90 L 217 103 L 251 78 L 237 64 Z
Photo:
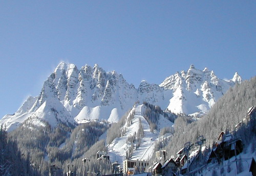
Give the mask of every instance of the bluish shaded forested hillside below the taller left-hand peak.
M 10 142 L 17 144 L 22 159 L 28 163 L 27 168 L 31 166 L 35 170 L 31 173 L 27 171 L 25 175 L 50 175 L 53 166 L 55 174 L 62 175 L 67 170 L 68 164 L 78 158 L 81 162 L 84 154 L 109 126 L 103 121 L 92 121 L 77 127 L 70 127 L 61 122 L 56 128 L 52 128 L 46 121 L 45 124 L 45 127 L 34 127 L 33 124 L 25 122 L 8 134 Z M 5 150 L 5 155 L 7 154 Z M 21 160 L 20 162 L 26 163 Z

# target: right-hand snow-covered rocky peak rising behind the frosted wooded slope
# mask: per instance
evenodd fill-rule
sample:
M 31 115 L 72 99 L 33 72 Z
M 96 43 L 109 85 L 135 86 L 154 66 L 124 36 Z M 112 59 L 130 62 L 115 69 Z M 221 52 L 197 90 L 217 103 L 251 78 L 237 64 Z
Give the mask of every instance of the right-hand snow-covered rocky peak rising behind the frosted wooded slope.
M 197 114 L 207 112 L 212 105 L 234 84 L 240 84 L 236 72 L 231 80 L 216 77 L 214 71 L 203 71 L 191 65 L 187 71 L 177 72 L 166 78 L 159 86 L 172 90 L 167 108 L 174 113 Z

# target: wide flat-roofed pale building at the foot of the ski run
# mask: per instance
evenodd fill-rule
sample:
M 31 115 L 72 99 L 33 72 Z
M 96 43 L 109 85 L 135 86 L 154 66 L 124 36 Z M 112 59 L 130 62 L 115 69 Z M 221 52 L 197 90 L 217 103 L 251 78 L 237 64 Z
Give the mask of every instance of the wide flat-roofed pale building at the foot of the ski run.
M 123 173 L 124 174 L 134 174 L 135 171 L 144 172 L 148 161 L 139 161 L 139 160 L 124 160 L 123 161 Z M 136 168 L 136 170 L 135 170 Z

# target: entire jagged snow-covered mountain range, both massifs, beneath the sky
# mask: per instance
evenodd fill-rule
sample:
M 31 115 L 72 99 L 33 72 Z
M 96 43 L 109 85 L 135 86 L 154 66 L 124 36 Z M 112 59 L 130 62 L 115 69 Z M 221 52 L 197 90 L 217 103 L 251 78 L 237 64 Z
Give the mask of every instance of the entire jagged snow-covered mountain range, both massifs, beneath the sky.
M 61 62 L 44 82 L 39 96 L 29 97 L 15 114 L 5 115 L 0 123 L 5 123 L 10 131 L 29 117 L 50 121 L 53 126 L 58 120 L 80 123 L 105 119 L 117 122 L 138 101 L 174 113 L 202 114 L 230 86 L 241 81 L 238 73 L 231 80 L 224 81 L 217 78 L 214 71 L 207 68 L 202 71 L 191 65 L 187 71 L 177 72 L 160 85 L 142 81 L 135 88 L 125 81 L 122 74 L 106 72 L 97 64 L 79 70 L 74 64 Z

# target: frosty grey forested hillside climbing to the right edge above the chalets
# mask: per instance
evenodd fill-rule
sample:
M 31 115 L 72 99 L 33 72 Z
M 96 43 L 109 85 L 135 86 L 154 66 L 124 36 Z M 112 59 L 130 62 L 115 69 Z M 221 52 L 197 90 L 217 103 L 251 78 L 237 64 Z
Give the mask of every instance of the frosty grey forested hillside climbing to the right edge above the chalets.
M 196 142 L 200 135 L 204 135 L 206 145 L 211 147 L 222 131 L 233 132 L 236 130 L 236 125 L 247 116 L 248 109 L 256 105 L 255 90 L 256 77 L 230 88 L 202 119 L 194 121 L 189 117 L 178 117 L 175 121 L 174 136 L 167 146 L 170 155 L 175 156 L 184 147 L 184 143 Z M 250 121 L 253 123 L 251 125 L 248 123 L 245 121 L 244 125 L 251 128 L 243 130 L 242 125 L 238 134 L 246 146 L 248 143 L 256 141 L 255 120 Z

